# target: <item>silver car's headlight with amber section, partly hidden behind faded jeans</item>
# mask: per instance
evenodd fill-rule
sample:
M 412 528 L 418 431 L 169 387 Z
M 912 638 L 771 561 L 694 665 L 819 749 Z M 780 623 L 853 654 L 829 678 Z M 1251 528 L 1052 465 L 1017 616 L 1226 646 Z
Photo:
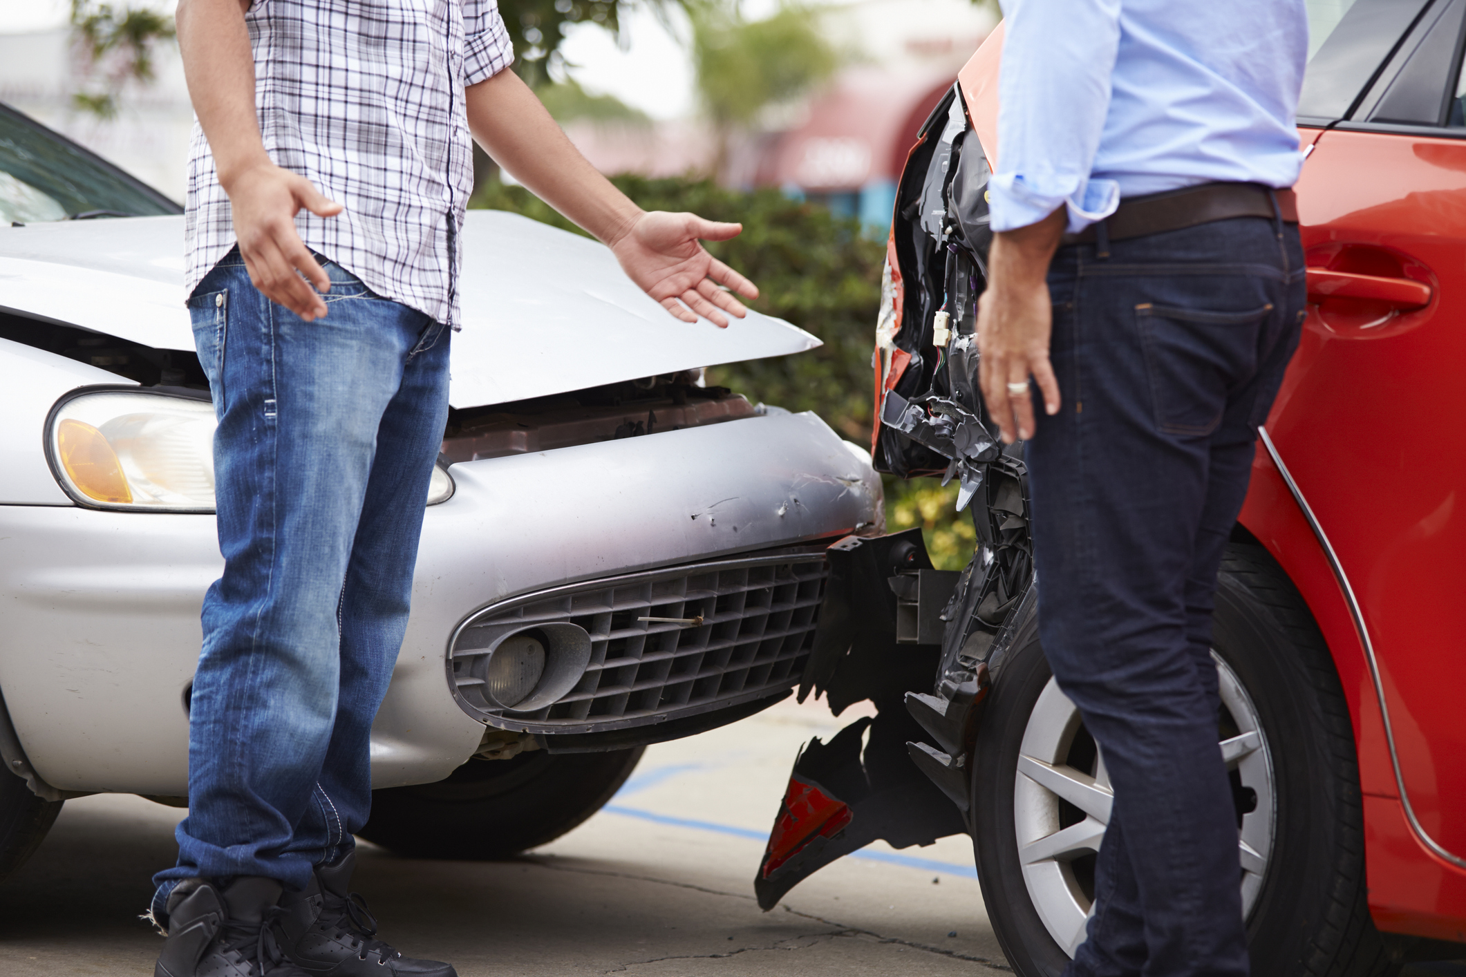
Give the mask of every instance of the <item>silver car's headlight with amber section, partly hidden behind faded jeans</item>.
M 81 505 L 154 513 L 214 511 L 214 406 L 138 390 L 82 391 L 47 420 L 45 451 L 62 488 Z M 428 505 L 453 495 L 432 467 Z

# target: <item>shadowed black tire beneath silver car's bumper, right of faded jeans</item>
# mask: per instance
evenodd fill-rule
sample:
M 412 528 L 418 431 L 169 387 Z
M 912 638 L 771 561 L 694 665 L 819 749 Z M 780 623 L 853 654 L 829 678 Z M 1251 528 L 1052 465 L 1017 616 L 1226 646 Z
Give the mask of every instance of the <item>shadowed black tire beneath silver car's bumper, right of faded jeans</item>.
M 601 810 L 644 747 L 474 759 L 435 784 L 372 791 L 361 836 L 413 858 L 509 858 Z

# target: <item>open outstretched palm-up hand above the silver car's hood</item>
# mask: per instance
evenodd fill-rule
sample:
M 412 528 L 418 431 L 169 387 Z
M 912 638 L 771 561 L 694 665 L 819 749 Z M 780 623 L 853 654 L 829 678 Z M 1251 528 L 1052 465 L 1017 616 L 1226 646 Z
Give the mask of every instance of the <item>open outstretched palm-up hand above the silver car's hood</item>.
M 696 322 L 701 315 L 727 327 L 724 312 L 743 318 L 748 309 L 718 286 L 745 299 L 756 299 L 758 289 L 710 255 L 698 240 L 727 240 L 742 230 L 742 224 L 708 221 L 696 214 L 651 211 L 641 214 L 610 245 L 626 275 L 667 312 L 683 322 Z

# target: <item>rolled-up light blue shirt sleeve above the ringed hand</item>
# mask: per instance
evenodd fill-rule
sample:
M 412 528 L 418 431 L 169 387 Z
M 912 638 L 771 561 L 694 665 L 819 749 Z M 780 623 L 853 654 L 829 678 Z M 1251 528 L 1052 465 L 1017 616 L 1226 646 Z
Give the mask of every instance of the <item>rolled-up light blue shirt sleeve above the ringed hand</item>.
M 992 230 L 1035 224 L 1067 207 L 1070 233 L 1120 204 L 1092 180 L 1120 47 L 1120 0 L 1004 0 L 998 166 Z

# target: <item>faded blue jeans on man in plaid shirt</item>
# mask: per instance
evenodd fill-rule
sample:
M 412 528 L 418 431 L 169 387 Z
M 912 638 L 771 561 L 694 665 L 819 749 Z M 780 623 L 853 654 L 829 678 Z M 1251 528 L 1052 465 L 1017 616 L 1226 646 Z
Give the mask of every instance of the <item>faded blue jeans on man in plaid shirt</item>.
M 449 337 L 340 265 L 305 322 L 237 249 L 189 297 L 218 432 L 224 576 L 204 598 L 189 814 L 152 910 L 191 876 L 303 888 L 371 806 L 371 724 L 408 624 L 447 422 Z

